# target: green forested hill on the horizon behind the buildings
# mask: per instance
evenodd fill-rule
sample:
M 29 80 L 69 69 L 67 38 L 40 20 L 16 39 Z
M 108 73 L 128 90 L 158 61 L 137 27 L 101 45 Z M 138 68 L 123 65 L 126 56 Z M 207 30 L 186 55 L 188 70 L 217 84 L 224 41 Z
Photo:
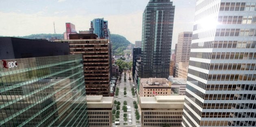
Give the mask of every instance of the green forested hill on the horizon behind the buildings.
M 3 36 L 0 36 L 3 37 Z M 56 38 L 56 39 L 64 39 L 63 34 L 31 34 L 28 36 L 14 36 L 14 37 L 18 37 L 18 38 L 24 38 L 24 39 L 51 39 Z M 128 41 L 124 36 L 121 36 L 119 34 L 111 34 L 111 42 L 113 43 L 112 45 L 112 51 L 115 52 L 116 55 L 124 55 L 124 50 L 126 50 L 126 48 L 129 45 L 133 45 L 132 43 L 130 43 L 130 41 Z

